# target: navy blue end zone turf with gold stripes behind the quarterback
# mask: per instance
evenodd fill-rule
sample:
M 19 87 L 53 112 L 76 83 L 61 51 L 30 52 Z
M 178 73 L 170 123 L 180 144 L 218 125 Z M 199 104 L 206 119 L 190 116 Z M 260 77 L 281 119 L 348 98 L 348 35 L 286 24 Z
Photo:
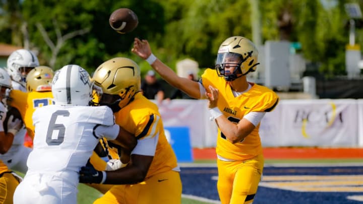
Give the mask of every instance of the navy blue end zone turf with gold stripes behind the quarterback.
M 183 167 L 180 175 L 183 182 L 183 194 L 219 200 L 216 167 Z M 350 196 L 363 197 L 363 191 L 360 190 L 363 188 L 362 177 L 362 166 L 265 167 L 264 180 L 260 183 L 254 204 L 362 203 L 362 201 L 349 199 Z M 292 187 L 289 186 L 290 183 Z M 266 187 L 267 185 L 272 187 Z M 286 189 L 273 187 L 273 185 L 286 185 L 284 186 Z M 313 187 L 302 191 L 296 188 L 296 186 L 306 188 L 308 185 Z M 322 192 L 322 188 L 327 189 L 328 192 Z

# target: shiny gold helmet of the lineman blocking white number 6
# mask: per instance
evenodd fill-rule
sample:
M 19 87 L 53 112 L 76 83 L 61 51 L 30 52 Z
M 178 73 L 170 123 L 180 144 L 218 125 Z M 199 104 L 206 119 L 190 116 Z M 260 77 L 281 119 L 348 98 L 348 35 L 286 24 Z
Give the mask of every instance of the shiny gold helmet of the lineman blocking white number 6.
M 116 57 L 99 65 L 92 81 L 93 103 L 107 105 L 117 112 L 140 92 L 140 67 L 129 58 Z

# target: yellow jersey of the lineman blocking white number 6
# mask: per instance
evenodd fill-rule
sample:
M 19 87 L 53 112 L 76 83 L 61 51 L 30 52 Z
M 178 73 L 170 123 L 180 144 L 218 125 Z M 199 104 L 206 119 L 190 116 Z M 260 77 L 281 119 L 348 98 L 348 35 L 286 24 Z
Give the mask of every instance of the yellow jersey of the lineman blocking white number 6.
M 134 134 L 138 140 L 159 135 L 155 155 L 146 178 L 177 167 L 176 156 L 166 140 L 164 126 L 156 104 L 145 98 L 142 93 L 137 93 L 131 103 L 114 115 L 115 123 Z

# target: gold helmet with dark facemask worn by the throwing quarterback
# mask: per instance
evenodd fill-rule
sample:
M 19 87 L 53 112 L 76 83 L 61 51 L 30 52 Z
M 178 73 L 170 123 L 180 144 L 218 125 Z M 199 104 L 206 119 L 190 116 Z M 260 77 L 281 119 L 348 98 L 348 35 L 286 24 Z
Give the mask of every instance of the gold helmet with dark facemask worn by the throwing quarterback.
M 233 81 L 250 72 L 255 72 L 258 50 L 253 42 L 241 36 L 229 37 L 219 46 L 215 69 L 219 77 Z M 225 67 L 235 66 L 233 73 Z

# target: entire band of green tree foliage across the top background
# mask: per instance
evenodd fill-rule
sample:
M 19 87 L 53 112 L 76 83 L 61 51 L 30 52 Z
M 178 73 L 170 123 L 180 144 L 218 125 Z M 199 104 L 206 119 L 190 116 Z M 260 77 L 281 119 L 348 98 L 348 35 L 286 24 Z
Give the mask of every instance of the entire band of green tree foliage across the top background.
M 240 35 L 252 39 L 251 1 L 253 0 L 24 0 L 0 1 L 0 41 L 24 46 L 24 24 L 30 46 L 38 49 L 43 64 L 49 63 L 51 49 L 37 23 L 49 39 L 57 42 L 66 35 L 89 28 L 83 35 L 64 42 L 54 69 L 76 63 L 92 72 L 100 63 L 115 56 L 131 57 L 142 67 L 149 65 L 132 54 L 135 37 L 149 40 L 153 52 L 173 67 L 178 59 L 193 58 L 201 67 L 214 65 L 220 43 Z M 348 17 L 345 3 L 354 0 L 259 0 L 262 42 L 288 40 L 300 42 L 305 58 L 321 64 L 326 76 L 345 72 L 345 45 L 348 43 Z M 130 8 L 139 18 L 138 27 L 120 35 L 108 25 L 112 11 Z M 56 28 L 58 28 L 58 33 Z M 356 29 L 356 43 L 363 47 L 362 28 Z

